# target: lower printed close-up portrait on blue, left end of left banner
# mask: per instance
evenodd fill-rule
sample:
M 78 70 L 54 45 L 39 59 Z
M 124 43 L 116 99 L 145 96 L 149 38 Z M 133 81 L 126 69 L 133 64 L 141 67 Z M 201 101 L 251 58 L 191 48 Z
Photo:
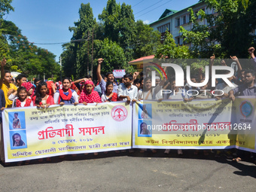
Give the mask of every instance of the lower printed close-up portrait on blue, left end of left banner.
M 11 149 L 27 148 L 26 130 L 10 131 Z

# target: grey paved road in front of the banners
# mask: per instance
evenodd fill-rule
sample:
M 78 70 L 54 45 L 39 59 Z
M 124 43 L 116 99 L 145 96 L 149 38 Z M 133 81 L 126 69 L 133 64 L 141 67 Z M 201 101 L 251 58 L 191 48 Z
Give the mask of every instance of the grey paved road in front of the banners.
M 255 191 L 256 166 L 193 151 L 108 152 L 1 166 L 0 191 Z

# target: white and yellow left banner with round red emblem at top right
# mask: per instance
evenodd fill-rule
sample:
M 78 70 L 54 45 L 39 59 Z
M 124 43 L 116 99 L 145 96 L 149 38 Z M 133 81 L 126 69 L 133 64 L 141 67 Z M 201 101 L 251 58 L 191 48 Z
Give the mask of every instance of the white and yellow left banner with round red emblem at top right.
M 5 109 L 5 161 L 129 149 L 131 127 L 125 102 Z

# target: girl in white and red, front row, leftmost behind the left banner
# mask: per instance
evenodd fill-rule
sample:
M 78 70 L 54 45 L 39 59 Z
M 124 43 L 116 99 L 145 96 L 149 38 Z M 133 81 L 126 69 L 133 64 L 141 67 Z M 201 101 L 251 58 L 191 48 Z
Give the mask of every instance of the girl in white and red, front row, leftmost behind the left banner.
M 32 107 L 34 106 L 32 99 L 28 97 L 28 93 L 25 87 L 19 87 L 17 90 L 18 97 L 13 102 L 13 107 Z

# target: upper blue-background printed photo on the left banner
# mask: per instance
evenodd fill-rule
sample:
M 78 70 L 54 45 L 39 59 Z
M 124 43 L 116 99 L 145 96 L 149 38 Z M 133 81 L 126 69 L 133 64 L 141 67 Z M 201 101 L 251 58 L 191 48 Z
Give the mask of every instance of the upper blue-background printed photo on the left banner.
M 26 129 L 25 112 L 10 112 L 9 115 L 9 128 L 10 130 Z

